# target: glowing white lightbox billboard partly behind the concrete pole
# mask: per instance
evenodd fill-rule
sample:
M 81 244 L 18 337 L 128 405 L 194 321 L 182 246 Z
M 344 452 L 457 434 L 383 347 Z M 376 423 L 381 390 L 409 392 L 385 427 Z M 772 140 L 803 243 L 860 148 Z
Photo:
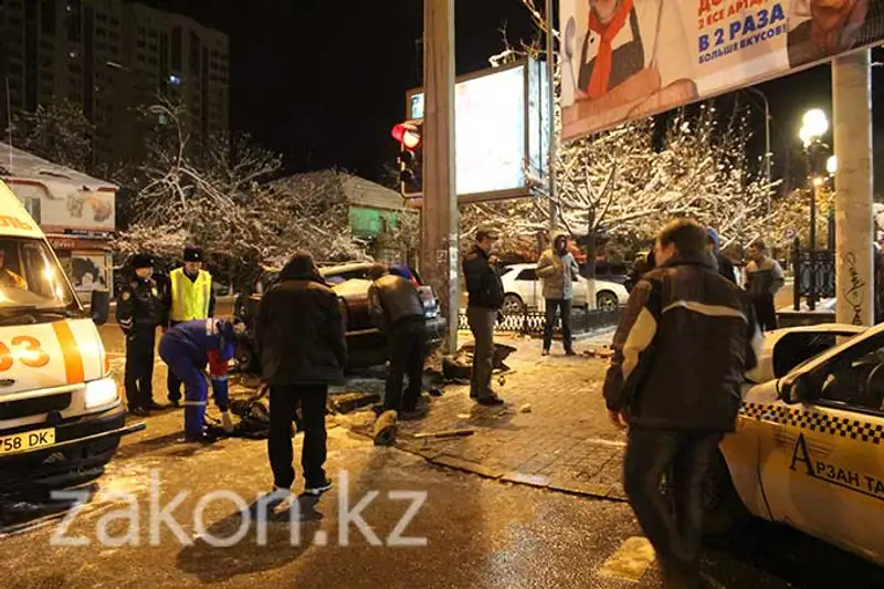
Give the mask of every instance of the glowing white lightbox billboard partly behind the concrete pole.
M 465 201 L 526 196 L 526 167 L 541 169 L 546 66 L 522 61 L 457 78 L 454 136 L 457 196 Z M 408 93 L 407 118 L 423 118 L 422 90 Z

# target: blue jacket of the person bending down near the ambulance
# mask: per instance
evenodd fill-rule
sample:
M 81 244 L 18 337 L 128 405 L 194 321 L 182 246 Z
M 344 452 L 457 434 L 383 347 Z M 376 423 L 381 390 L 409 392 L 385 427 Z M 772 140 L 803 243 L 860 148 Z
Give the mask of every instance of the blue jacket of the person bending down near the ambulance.
M 230 360 L 236 351 L 233 324 L 224 319 L 197 319 L 175 325 L 166 332 L 159 344 L 160 357 L 186 357 L 196 366 L 209 362 L 209 351 L 217 350 L 222 360 Z

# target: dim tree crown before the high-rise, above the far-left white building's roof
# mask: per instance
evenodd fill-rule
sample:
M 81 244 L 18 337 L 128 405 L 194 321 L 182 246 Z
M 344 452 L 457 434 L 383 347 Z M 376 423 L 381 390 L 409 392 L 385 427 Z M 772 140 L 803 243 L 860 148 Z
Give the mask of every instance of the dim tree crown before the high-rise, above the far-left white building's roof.
M 95 127 L 78 104 L 62 99 L 20 113 L 12 123 L 17 147 L 53 164 L 86 171 L 92 162 Z

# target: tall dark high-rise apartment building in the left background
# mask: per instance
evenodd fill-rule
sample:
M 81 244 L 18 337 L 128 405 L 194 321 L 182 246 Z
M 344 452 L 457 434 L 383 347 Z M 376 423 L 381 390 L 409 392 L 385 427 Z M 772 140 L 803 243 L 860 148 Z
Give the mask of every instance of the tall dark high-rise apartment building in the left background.
M 4 127 L 67 98 L 96 127 L 96 164 L 137 157 L 138 108 L 159 94 L 187 106 L 197 140 L 229 128 L 225 33 L 123 0 L 0 0 L 0 20 Z

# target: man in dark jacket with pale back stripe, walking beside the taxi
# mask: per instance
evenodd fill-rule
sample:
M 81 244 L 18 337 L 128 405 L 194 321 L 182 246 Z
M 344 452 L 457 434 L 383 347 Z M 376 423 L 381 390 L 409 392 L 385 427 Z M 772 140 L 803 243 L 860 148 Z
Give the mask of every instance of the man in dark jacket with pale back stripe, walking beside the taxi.
M 760 335 L 746 294 L 722 277 L 692 220 L 657 238 L 657 269 L 632 291 L 604 381 L 611 421 L 629 423 L 623 486 L 663 567 L 664 587 L 697 587 L 701 483 L 734 431 Z M 664 474 L 675 514 L 661 493 Z

